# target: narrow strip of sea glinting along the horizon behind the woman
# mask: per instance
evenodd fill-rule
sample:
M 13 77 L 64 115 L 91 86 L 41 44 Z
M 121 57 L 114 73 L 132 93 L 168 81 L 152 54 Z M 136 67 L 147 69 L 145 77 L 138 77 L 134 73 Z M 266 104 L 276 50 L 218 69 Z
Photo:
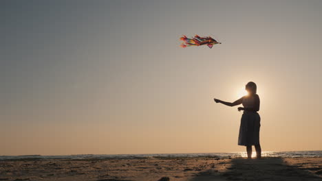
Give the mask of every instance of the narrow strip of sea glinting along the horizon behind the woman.
M 256 153 L 253 152 L 253 156 Z M 21 155 L 21 156 L 0 156 L 0 160 L 33 160 L 33 159 L 133 159 L 133 158 L 238 158 L 246 157 L 246 152 L 230 153 L 188 153 L 188 154 L 76 154 L 76 155 Z M 262 156 L 301 158 L 301 157 L 322 157 L 322 151 L 300 151 L 300 152 L 262 152 Z

